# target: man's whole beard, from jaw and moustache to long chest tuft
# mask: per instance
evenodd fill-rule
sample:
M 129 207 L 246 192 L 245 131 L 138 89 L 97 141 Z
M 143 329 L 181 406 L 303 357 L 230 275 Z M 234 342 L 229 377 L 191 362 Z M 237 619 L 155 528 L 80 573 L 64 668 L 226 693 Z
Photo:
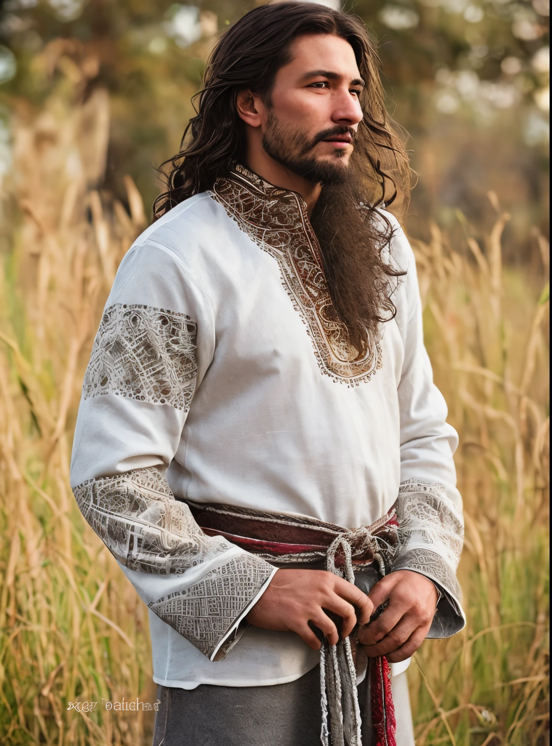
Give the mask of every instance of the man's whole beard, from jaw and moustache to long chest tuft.
M 316 157 L 317 142 L 334 134 L 351 134 L 360 145 L 349 160 L 336 148 L 332 158 Z M 314 183 L 322 183 L 310 224 L 319 241 L 327 289 L 336 321 L 348 332 L 357 359 L 368 353 L 379 338 L 381 325 L 395 316 L 392 292 L 403 275 L 384 260 L 393 230 L 385 213 L 375 213 L 383 194 L 366 178 L 369 166 L 362 163 L 363 133 L 336 126 L 309 138 L 299 129 L 286 128 L 270 113 L 263 148 L 289 171 Z M 379 167 L 379 164 L 378 164 Z

